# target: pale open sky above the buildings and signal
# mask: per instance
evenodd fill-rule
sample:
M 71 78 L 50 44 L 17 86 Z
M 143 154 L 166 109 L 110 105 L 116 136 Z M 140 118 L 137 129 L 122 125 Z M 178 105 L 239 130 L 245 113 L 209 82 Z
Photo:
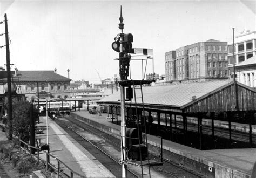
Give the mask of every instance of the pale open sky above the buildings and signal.
M 133 47 L 152 48 L 154 71 L 165 73 L 164 53 L 208 39 L 232 40 L 244 28 L 255 31 L 254 1 L 43 1 L 0 0 L 0 21 L 8 16 L 11 63 L 19 70 L 53 70 L 73 80 L 98 83 L 118 73 L 113 38 L 120 5 L 124 33 Z M 0 33 L 4 25 L 0 24 Z M 5 45 L 0 36 L 0 46 Z M 5 48 L 0 49 L 6 64 Z M 12 68 L 14 68 L 14 66 Z

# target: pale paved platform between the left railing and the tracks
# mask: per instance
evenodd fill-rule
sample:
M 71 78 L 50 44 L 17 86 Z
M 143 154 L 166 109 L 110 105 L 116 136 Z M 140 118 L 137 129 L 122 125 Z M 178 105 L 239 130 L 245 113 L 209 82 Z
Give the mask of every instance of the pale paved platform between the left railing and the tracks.
M 71 138 L 62 128 L 60 128 L 50 118 L 48 119 L 48 139 L 50 145 L 50 154 L 56 156 L 64 162 L 73 171 L 86 177 L 113 177 L 98 160 L 95 159 L 85 148 L 79 145 Z M 36 139 L 41 139 L 41 143 L 46 143 L 46 117 L 40 118 L 40 123 L 37 126 L 44 127 L 43 134 L 37 134 Z M 41 153 L 41 158 L 46 160 L 46 154 Z M 57 167 L 57 161 L 50 158 L 50 163 Z M 63 165 L 60 165 L 64 167 Z M 68 174 L 70 174 L 68 172 Z M 74 177 L 76 175 L 74 174 Z

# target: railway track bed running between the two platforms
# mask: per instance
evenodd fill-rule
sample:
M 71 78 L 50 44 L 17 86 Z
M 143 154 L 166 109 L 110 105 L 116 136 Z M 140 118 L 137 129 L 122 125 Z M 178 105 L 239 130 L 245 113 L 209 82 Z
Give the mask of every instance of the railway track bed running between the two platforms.
M 79 143 L 80 141 L 82 141 L 81 140 L 81 136 L 82 136 L 83 139 L 88 140 L 89 142 L 91 142 L 91 144 L 98 147 L 99 150 L 104 152 L 106 155 L 109 155 L 111 159 L 116 160 L 115 162 L 118 162 L 118 159 L 120 159 L 120 139 L 114 137 L 113 135 L 109 135 L 105 132 L 102 132 L 99 129 L 89 126 L 84 122 L 76 120 L 72 117 L 65 117 L 64 119 L 60 118 L 60 119 L 57 119 L 56 122 L 65 131 L 68 130 L 68 133 L 71 134 L 71 136 L 73 135 L 71 131 L 79 135 L 77 136 L 77 138 L 75 138 L 76 140 L 78 140 Z M 83 144 L 81 145 L 83 146 Z M 86 145 L 85 145 L 85 148 L 89 151 L 93 149 L 93 148 L 91 149 L 88 148 Z M 156 156 L 150 155 L 150 159 L 155 159 L 155 158 Z M 113 169 L 111 165 L 106 165 L 106 168 L 109 169 L 112 173 L 117 171 L 117 169 Z M 127 165 L 127 169 L 131 172 L 130 174 L 132 174 L 131 175 L 132 177 L 141 176 L 140 167 Z M 119 165 L 119 170 L 120 170 L 120 165 Z M 117 176 L 120 176 L 120 175 L 121 173 L 118 172 Z M 163 166 L 151 167 L 151 176 L 152 175 L 161 176 L 161 177 L 184 177 L 184 176 L 185 177 L 201 177 L 201 175 L 197 174 L 196 172 L 187 170 L 184 167 L 167 160 L 164 160 Z

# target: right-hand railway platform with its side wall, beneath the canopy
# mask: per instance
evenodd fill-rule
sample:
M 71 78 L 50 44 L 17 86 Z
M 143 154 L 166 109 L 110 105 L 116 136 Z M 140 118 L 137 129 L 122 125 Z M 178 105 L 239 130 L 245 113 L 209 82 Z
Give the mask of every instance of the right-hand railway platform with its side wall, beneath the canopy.
M 93 115 L 80 111 L 71 112 L 71 115 L 105 132 L 120 136 L 120 126 L 107 119 L 107 114 Z M 147 135 L 147 140 L 150 152 L 160 153 L 160 139 Z M 206 177 L 250 177 L 256 161 L 256 148 L 199 150 L 163 140 L 163 150 L 163 158 L 197 170 Z

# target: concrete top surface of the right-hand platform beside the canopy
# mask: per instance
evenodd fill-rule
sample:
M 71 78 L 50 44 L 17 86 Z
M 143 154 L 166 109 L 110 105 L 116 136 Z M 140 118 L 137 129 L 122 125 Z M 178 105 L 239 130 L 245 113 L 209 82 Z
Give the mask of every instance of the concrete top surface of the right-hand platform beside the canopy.
M 112 123 L 111 119 L 107 119 L 108 114 L 93 115 L 87 111 L 72 112 L 72 114 L 91 120 L 92 125 L 97 125 L 95 124 L 97 122 L 110 127 L 105 129 L 113 132 L 113 134 L 120 133 L 120 126 L 114 124 L 116 120 Z M 118 120 L 120 120 L 120 117 Z M 147 135 L 147 140 L 151 145 L 160 147 L 158 137 Z M 256 161 L 256 148 L 199 150 L 163 140 L 163 149 L 215 168 L 216 177 L 222 177 L 223 175 L 227 177 L 251 176 Z

